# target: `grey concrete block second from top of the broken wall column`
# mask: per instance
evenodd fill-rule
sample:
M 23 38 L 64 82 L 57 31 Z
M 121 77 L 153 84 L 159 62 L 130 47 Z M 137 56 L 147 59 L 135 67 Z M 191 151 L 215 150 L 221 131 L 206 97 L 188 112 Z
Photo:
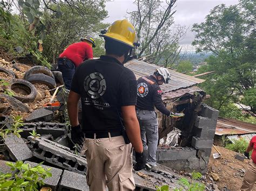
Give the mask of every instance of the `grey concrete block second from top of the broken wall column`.
M 217 118 L 210 119 L 207 117 L 197 116 L 194 122 L 194 126 L 199 129 L 215 130 L 217 125 Z

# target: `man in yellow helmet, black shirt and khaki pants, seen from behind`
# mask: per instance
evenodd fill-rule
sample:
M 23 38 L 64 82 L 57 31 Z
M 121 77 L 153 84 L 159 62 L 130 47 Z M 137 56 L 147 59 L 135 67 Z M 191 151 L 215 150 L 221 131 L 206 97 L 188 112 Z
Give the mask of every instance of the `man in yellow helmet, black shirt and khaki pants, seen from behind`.
M 137 81 L 123 66 L 136 34 L 124 19 L 100 36 L 105 40 L 105 55 L 85 61 L 73 76 L 68 98 L 71 139 L 81 144 L 85 136 L 82 154 L 86 155 L 90 190 L 105 190 L 106 186 L 109 190 L 133 190 L 132 146 L 137 162 L 134 169 L 140 170 L 146 163 L 135 110 Z M 80 97 L 82 128 L 77 119 Z

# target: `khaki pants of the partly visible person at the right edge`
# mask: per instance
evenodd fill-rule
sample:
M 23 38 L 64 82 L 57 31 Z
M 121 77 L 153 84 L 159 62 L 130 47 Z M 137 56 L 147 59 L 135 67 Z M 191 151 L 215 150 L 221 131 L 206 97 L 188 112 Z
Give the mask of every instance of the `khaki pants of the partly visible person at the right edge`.
M 242 180 L 242 186 L 240 190 L 252 190 L 256 181 L 256 164 L 251 160 L 248 162 L 247 170 L 245 172 L 244 180 Z

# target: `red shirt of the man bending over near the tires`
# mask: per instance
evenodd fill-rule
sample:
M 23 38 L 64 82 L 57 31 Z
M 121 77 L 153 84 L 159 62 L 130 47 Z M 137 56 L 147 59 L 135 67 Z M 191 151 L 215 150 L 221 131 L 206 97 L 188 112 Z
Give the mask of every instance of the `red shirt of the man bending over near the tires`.
M 92 47 L 86 42 L 73 43 L 59 55 L 59 58 L 68 58 L 78 67 L 85 59 L 92 59 Z

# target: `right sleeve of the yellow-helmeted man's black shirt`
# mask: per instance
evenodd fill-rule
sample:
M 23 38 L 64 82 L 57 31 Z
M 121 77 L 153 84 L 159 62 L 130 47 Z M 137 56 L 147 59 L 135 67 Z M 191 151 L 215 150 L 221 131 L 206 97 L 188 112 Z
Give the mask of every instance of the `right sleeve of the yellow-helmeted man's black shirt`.
M 131 70 L 126 70 L 121 75 L 119 83 L 120 106 L 136 105 L 137 102 L 137 80 Z

